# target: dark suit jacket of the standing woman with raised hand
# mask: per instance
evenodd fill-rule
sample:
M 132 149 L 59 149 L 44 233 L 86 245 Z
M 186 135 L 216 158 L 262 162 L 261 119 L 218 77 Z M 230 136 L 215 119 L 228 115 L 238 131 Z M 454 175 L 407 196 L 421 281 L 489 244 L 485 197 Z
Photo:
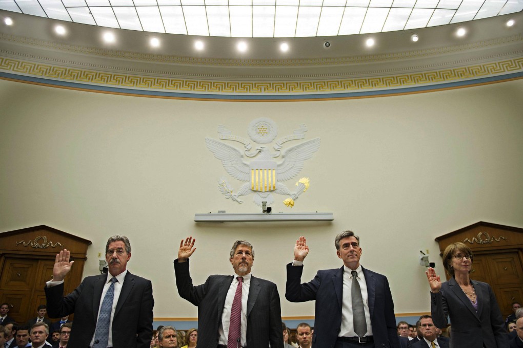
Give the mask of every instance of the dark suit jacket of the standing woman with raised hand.
M 490 285 L 471 280 L 477 313 L 453 277 L 441 284 L 439 293 L 430 293 L 432 320 L 438 328 L 447 326 L 450 317 L 450 346 L 467 348 L 506 348 L 505 322 Z

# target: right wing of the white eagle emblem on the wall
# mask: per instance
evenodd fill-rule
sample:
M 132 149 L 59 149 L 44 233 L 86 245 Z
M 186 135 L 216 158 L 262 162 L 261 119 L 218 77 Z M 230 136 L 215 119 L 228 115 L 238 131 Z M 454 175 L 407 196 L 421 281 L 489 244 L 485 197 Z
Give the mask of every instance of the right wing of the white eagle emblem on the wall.
M 286 181 L 298 175 L 305 160 L 310 159 L 319 148 L 320 138 L 314 138 L 283 151 L 283 161 L 278 163 L 276 169 L 278 181 Z

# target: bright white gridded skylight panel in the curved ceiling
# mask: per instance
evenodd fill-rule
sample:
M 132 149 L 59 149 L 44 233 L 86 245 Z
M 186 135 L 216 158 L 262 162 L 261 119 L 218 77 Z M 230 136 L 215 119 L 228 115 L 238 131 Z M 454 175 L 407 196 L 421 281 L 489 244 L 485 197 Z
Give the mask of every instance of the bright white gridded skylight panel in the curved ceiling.
M 1 0 L 88 25 L 211 37 L 299 38 L 412 30 L 518 13 L 521 0 Z

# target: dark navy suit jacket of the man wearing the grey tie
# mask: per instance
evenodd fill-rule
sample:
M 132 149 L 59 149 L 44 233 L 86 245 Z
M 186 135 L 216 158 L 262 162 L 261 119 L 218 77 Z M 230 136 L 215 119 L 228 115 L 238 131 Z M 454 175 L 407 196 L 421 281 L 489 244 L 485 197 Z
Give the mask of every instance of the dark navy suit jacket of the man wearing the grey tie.
M 367 283 L 374 347 L 399 348 L 394 303 L 384 275 L 362 268 Z M 290 302 L 316 300 L 314 348 L 334 346 L 342 325 L 343 266 L 318 271 L 309 283 L 301 282 L 303 266 L 287 265 L 285 297 Z

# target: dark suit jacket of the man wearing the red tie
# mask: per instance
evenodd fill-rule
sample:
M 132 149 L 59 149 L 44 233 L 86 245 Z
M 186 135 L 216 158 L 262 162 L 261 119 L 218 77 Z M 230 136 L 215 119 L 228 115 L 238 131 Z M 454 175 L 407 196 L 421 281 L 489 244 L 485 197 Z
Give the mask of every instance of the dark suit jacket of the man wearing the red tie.
M 178 293 L 198 306 L 198 346 L 218 345 L 223 306 L 232 275 L 211 275 L 201 285 L 192 285 L 187 262 L 174 261 Z M 283 348 L 280 295 L 275 283 L 251 276 L 247 298 L 247 347 Z

